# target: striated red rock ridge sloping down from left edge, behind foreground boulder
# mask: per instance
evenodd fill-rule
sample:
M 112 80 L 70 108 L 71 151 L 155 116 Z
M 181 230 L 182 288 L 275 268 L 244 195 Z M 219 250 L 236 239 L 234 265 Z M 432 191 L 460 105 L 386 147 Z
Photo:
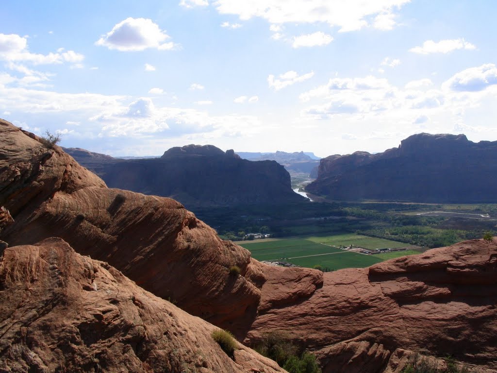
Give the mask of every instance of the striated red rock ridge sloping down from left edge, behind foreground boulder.
M 15 246 L 61 237 L 187 312 L 246 333 L 260 299 L 244 277 L 247 250 L 173 199 L 107 188 L 59 147 L 8 122 L 0 121 L 0 141 L 0 206 L 15 219 L 1 240 Z M 229 274 L 233 265 L 241 276 Z

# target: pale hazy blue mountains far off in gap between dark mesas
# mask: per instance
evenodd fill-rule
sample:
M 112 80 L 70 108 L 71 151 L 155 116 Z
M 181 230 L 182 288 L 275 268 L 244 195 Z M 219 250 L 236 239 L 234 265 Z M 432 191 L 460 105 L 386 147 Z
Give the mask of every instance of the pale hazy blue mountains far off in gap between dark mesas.
M 240 157 L 248 159 L 250 161 L 276 161 L 280 165 L 283 165 L 285 169 L 290 173 L 290 175 L 295 174 L 307 174 L 312 175 L 313 169 L 318 167 L 319 158 L 317 158 L 314 153 L 304 153 L 304 152 L 280 152 L 276 153 L 237 153 Z M 311 154 L 314 158 L 312 158 Z

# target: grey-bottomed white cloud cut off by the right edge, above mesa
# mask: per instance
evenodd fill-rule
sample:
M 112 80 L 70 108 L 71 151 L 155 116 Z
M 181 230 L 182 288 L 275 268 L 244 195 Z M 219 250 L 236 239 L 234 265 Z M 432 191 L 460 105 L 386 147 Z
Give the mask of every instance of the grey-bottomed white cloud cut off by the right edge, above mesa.
M 477 92 L 497 84 L 497 66 L 485 64 L 455 74 L 443 87 L 452 91 Z

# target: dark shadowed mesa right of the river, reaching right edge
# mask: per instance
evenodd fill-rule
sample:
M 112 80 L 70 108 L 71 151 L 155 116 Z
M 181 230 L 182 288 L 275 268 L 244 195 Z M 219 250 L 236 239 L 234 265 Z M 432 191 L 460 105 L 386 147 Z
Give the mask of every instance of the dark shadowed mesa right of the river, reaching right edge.
M 497 202 L 497 141 L 420 133 L 383 153 L 332 155 L 306 190 L 338 200 Z

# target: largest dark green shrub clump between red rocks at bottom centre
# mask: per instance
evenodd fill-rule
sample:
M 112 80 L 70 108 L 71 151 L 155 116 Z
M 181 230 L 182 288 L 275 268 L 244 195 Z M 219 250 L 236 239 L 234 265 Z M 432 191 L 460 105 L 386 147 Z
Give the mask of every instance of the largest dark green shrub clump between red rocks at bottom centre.
M 266 333 L 254 349 L 289 373 L 321 373 L 316 357 L 282 333 Z

